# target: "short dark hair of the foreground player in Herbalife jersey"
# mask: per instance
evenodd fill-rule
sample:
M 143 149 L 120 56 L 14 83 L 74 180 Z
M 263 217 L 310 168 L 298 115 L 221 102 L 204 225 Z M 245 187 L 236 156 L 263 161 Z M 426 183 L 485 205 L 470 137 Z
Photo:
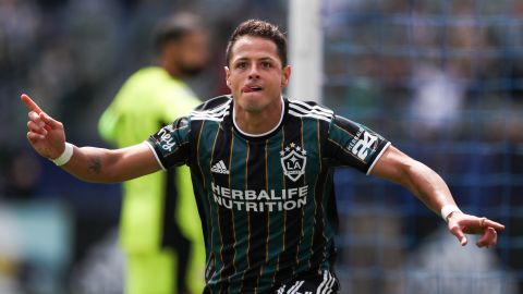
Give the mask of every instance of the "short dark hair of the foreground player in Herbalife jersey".
M 232 33 L 227 44 L 226 61 L 227 65 L 231 61 L 232 47 L 240 37 L 253 36 L 271 40 L 278 48 L 278 56 L 280 57 L 281 64 L 287 65 L 287 38 L 283 33 L 280 32 L 278 26 L 259 20 L 248 20 L 241 23 L 236 29 Z

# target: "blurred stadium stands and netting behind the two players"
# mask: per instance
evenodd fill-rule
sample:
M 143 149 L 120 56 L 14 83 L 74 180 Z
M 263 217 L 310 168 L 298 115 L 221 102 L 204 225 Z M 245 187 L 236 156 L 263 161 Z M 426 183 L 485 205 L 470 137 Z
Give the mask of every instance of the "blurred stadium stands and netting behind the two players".
M 211 62 L 188 81 L 203 98 L 228 93 L 240 22 L 289 27 L 284 0 L 0 0 L 0 293 L 121 293 L 120 186 L 36 156 L 19 97 L 69 142 L 107 146 L 101 112 L 154 62 L 155 23 L 186 10 L 211 29 Z M 461 247 L 405 189 L 339 170 L 341 293 L 523 293 L 523 2 L 324 0 L 319 13 L 321 103 L 438 171 L 462 210 L 507 225 L 495 249 Z

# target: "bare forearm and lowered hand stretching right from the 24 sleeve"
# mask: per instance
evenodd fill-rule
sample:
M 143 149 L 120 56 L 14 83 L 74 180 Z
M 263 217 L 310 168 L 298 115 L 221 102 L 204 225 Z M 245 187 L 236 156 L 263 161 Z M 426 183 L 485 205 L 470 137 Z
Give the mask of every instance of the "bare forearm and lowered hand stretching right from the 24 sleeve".
M 438 215 L 443 206 L 455 206 L 452 194 L 441 176 L 393 146 L 390 146 L 379 158 L 370 174 L 403 185 Z M 502 224 L 487 218 L 478 218 L 460 211 L 450 213 L 447 221 L 449 231 L 458 237 L 461 245 L 467 243 L 465 234 L 482 234 L 476 245 L 478 247 L 494 246 L 497 243 L 496 231 L 504 229 Z

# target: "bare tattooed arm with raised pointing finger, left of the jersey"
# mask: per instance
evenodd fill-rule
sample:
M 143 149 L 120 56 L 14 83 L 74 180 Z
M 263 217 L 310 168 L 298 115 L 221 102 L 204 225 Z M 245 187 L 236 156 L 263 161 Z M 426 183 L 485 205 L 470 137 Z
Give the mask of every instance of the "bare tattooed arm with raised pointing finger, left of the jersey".
M 29 109 L 27 139 L 39 155 L 57 159 L 65 149 L 63 124 L 45 113 L 27 95 L 21 99 Z M 122 182 L 160 169 L 145 143 L 115 150 L 73 146 L 72 158 L 61 168 L 83 181 L 96 183 Z

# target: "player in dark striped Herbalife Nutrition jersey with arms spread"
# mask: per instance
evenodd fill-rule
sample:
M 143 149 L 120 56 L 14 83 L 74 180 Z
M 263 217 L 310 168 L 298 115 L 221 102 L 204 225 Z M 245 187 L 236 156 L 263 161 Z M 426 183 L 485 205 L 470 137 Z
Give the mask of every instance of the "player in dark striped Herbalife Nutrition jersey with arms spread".
M 226 54 L 232 95 L 207 101 L 143 144 L 108 150 L 65 143 L 63 125 L 22 95 L 31 110 L 27 138 L 89 182 L 188 166 L 206 242 L 204 293 L 337 292 L 336 167 L 402 184 L 442 215 L 461 245 L 465 234 L 481 234 L 481 247 L 496 244 L 504 226 L 461 212 L 425 164 L 325 107 L 283 98 L 291 68 L 275 25 L 240 24 Z

